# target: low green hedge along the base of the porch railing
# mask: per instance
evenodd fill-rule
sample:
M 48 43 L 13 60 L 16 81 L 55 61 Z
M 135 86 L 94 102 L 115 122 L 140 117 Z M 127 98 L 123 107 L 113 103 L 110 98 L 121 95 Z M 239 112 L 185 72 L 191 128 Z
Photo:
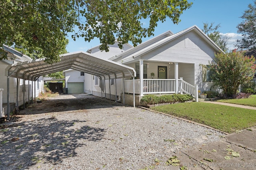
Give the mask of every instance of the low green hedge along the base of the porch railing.
M 142 105 L 162 104 L 162 103 L 175 103 L 175 102 L 186 102 L 193 100 L 193 97 L 188 94 L 173 94 L 173 95 L 146 95 L 140 100 Z

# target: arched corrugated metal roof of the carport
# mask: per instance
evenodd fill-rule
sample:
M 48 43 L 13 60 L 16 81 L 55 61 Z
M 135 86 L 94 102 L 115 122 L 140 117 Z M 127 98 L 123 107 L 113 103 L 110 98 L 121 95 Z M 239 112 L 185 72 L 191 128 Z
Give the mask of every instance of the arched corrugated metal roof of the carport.
M 100 59 L 84 51 L 61 55 L 60 61 L 48 64 L 45 59 L 36 59 L 8 66 L 6 76 L 35 81 L 37 77 L 67 69 L 74 69 L 105 79 L 126 78 L 136 76 L 134 68 Z

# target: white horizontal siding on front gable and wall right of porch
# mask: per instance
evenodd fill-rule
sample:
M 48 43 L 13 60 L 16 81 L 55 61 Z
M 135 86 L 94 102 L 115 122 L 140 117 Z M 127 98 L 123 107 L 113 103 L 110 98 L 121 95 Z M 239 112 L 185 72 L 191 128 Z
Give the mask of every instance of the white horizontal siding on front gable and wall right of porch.
M 198 49 L 186 48 L 186 37 L 198 37 L 194 31 L 181 35 L 176 39 L 144 54 L 141 59 L 160 62 L 194 63 L 195 64 L 195 83 L 200 90 L 210 89 L 211 83 L 202 82 L 201 64 L 209 64 L 214 59 L 214 49 L 202 38 L 198 37 Z M 145 61 L 144 61 L 145 62 Z M 192 68 L 190 68 L 192 69 Z M 179 75 L 181 76 L 181 75 Z M 185 76 L 183 76 L 185 77 Z M 186 80 L 185 80 L 186 81 Z M 191 80 L 190 80 L 191 81 Z

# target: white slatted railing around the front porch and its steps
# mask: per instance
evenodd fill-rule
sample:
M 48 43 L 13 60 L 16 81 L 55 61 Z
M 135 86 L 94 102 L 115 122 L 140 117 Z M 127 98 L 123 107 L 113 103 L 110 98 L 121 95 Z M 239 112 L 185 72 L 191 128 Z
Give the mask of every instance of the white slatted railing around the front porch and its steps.
M 143 79 L 143 94 L 175 94 L 175 81 L 176 79 Z M 198 86 L 192 86 L 182 78 L 178 81 L 178 93 L 184 92 L 198 98 Z M 134 80 L 134 84 L 135 94 L 140 94 L 140 80 Z M 133 80 L 124 80 L 124 92 L 133 93 Z

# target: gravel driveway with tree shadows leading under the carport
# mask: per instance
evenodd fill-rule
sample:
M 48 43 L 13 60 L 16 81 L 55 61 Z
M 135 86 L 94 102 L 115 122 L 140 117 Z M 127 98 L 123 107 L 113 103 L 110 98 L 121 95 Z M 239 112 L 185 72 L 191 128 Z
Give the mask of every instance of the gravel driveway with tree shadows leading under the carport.
M 20 114 L 0 124 L 0 169 L 166 170 L 180 149 L 224 135 L 88 95 L 50 98 Z

